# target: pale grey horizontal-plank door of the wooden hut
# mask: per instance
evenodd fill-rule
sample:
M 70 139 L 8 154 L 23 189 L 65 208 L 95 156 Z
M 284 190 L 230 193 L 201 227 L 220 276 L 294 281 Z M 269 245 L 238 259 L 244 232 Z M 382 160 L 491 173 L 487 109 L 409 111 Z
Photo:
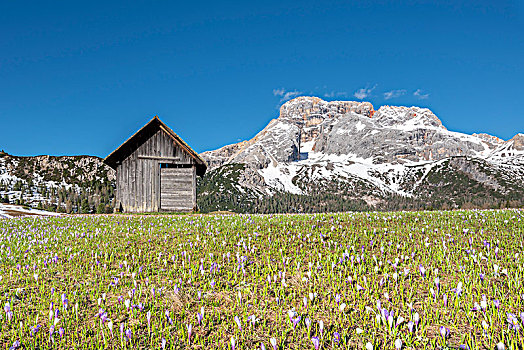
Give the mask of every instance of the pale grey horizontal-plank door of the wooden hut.
M 191 168 L 160 167 L 160 209 L 193 210 L 193 172 Z

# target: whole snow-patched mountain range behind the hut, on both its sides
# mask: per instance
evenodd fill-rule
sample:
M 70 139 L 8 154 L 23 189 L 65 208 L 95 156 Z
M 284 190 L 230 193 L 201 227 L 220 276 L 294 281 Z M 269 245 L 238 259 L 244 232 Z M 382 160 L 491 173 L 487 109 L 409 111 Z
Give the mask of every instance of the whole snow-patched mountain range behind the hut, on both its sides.
M 448 130 L 428 108 L 298 97 L 253 138 L 201 153 L 204 212 L 524 206 L 524 134 Z M 114 170 L 95 156 L 0 153 L 0 200 L 108 212 Z

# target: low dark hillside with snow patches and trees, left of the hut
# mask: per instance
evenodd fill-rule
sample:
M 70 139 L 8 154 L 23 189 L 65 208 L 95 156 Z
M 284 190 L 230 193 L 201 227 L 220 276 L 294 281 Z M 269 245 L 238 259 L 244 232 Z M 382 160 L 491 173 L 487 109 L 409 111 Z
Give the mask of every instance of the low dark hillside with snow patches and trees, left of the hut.
M 114 181 L 114 170 L 99 157 L 0 152 L 0 202 L 88 212 L 100 203 L 110 206 Z

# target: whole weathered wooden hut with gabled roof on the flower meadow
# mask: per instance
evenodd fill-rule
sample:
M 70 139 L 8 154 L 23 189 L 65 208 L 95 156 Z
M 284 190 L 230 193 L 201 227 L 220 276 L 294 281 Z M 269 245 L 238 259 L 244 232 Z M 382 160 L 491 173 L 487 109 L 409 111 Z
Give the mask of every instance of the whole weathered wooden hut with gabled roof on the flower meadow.
M 194 211 L 200 158 L 158 117 L 151 119 L 104 162 L 116 170 L 115 209 L 123 212 Z

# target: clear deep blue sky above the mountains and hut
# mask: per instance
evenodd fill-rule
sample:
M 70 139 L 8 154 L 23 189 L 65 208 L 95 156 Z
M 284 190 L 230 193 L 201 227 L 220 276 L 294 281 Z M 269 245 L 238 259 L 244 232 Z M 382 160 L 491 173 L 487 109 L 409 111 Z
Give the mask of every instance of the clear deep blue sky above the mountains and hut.
M 524 132 L 524 5 L 493 1 L 0 2 L 0 149 L 105 157 L 158 115 L 195 150 L 295 95 Z

